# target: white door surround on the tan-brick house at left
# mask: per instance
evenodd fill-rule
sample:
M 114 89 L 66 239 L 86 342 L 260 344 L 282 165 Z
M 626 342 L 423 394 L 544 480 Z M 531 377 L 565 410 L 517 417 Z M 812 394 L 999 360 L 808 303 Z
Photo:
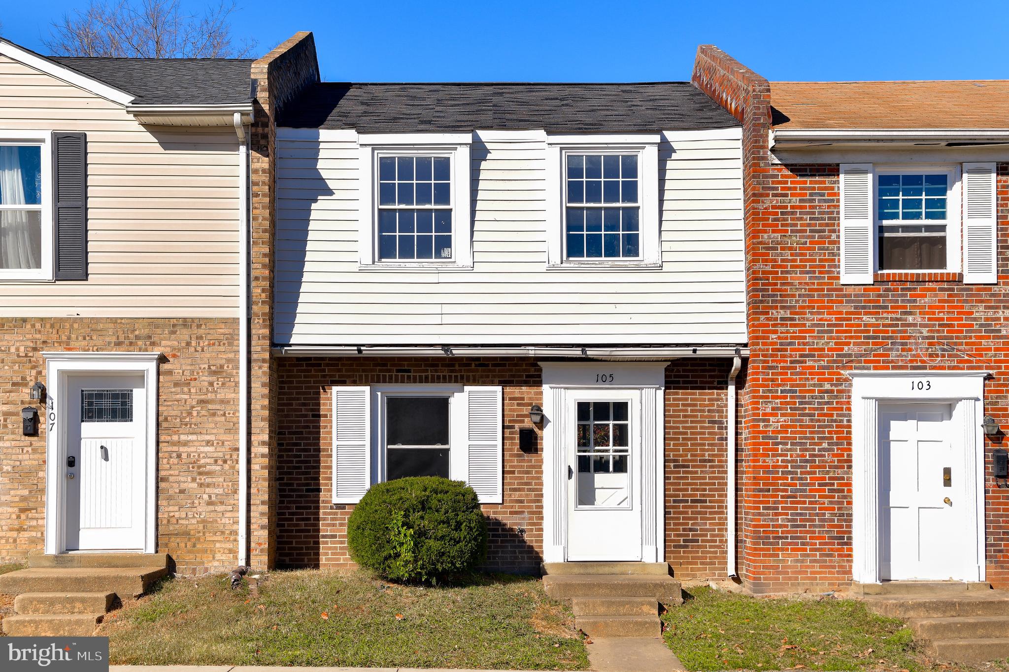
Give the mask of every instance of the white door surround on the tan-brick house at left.
M 60 405 L 67 376 L 77 373 L 142 373 L 146 389 L 143 552 L 157 547 L 157 363 L 160 352 L 43 352 L 45 359 L 45 553 L 67 551 L 67 424 Z

